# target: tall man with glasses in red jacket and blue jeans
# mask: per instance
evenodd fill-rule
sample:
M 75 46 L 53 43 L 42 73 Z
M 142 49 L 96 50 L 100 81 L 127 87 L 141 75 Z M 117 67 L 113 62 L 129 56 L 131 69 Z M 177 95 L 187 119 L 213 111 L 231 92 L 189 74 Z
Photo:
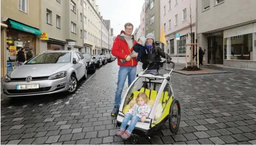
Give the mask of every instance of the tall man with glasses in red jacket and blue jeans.
M 128 76 L 128 85 L 130 86 L 136 77 L 136 69 L 138 64 L 136 60 L 138 53 L 131 55 L 133 59 L 131 58 L 131 56 L 129 56 L 129 54 L 131 54 L 133 50 L 134 44 L 137 44 L 137 41 L 134 40 L 134 37 L 132 35 L 133 25 L 131 23 L 126 23 L 124 25 L 124 28 L 125 31 L 121 31 L 120 35 L 117 35 L 112 47 L 112 54 L 113 56 L 117 57 L 117 64 L 118 66 L 120 66 L 118 72 L 115 107 L 111 112 L 112 116 L 115 116 L 119 110 L 125 80 Z M 120 59 L 126 59 L 127 62 L 123 64 Z

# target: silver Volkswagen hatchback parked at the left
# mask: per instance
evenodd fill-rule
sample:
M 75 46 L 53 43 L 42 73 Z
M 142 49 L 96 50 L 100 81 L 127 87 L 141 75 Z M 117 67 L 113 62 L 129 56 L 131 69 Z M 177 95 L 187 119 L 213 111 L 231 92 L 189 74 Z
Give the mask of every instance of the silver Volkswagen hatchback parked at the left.
M 4 77 L 8 97 L 74 93 L 77 82 L 87 78 L 87 63 L 74 50 L 47 50 L 32 57 Z

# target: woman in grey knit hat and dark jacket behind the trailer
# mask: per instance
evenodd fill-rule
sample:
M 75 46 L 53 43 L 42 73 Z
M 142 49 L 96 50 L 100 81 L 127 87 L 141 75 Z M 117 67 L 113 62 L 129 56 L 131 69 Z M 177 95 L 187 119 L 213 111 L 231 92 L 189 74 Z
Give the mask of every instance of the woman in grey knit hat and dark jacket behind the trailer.
M 172 58 L 163 52 L 163 50 L 159 46 L 155 46 L 154 44 L 154 35 L 152 33 L 148 33 L 146 36 L 146 54 L 141 57 L 141 62 L 143 63 L 142 68 L 145 70 L 148 66 L 147 73 L 158 74 L 158 70 L 162 66 L 160 62 L 153 62 L 153 61 L 161 61 L 161 57 L 167 60 L 167 63 L 170 63 Z M 152 63 L 153 62 L 153 63 Z

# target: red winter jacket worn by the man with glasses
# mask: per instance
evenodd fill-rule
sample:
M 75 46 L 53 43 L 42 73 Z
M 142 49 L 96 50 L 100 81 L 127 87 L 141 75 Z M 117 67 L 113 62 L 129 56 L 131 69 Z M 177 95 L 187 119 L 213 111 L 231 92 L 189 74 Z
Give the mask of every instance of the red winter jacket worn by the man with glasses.
M 121 31 L 120 34 L 122 34 L 122 33 L 125 33 L 125 32 Z M 133 37 L 132 37 L 132 40 L 133 40 L 133 46 L 134 46 L 134 44 L 138 43 L 136 40 L 134 40 Z M 124 64 L 120 61 L 120 59 L 126 59 L 126 57 L 132 53 L 133 46 L 132 46 L 132 48 L 129 48 L 129 45 L 127 44 L 124 37 L 117 35 L 116 39 L 113 42 L 112 55 L 117 57 L 118 66 L 133 67 L 133 66 L 138 65 L 136 58 L 133 58 L 130 61 L 125 62 Z

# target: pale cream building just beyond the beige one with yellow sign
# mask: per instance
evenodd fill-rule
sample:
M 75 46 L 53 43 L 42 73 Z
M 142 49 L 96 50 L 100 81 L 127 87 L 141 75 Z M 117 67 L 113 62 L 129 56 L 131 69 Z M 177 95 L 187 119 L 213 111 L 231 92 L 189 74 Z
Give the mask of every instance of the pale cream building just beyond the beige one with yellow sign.
M 95 0 L 83 1 L 83 15 L 85 52 L 101 54 L 102 19 Z

